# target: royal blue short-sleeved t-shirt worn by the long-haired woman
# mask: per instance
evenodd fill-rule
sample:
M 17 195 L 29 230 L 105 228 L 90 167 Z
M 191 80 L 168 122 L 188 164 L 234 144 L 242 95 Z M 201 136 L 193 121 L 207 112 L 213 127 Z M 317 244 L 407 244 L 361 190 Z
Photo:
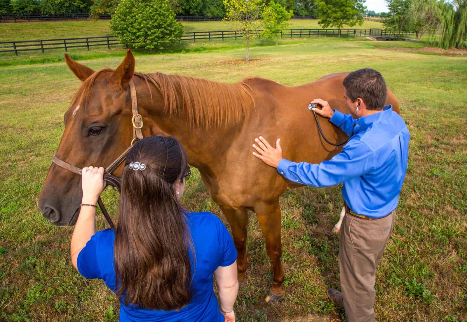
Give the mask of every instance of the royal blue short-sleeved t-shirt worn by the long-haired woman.
M 237 250 L 226 226 L 210 212 L 187 214 L 188 230 L 191 233 L 196 253 L 188 247 L 191 260 L 193 298 L 179 311 L 136 309 L 120 303 L 120 322 L 223 322 L 219 303 L 214 295 L 212 274 L 219 266 L 229 266 L 237 259 Z M 113 242 L 115 231 L 105 229 L 95 233 L 78 254 L 78 271 L 86 278 L 101 278 L 107 287 L 115 290 Z

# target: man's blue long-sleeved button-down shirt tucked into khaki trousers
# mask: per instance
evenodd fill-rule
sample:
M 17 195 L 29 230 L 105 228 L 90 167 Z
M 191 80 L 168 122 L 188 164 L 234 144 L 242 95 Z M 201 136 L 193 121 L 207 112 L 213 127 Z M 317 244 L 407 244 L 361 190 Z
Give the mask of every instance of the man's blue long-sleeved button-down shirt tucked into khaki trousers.
M 378 218 L 396 209 L 409 155 L 410 134 L 403 119 L 387 105 L 357 120 L 335 110 L 330 121 L 350 136 L 339 154 L 320 164 L 282 159 L 277 171 L 303 185 L 343 182 L 344 201 L 361 215 Z

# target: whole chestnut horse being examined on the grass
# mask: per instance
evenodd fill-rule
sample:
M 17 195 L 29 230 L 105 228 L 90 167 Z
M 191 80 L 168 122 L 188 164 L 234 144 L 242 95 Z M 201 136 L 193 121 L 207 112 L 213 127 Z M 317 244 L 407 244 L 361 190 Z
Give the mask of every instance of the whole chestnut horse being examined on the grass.
M 283 86 L 262 78 L 226 84 L 162 73 L 134 72 L 134 56 L 127 51 L 115 69 L 94 71 L 65 54 L 71 71 L 83 81 L 66 111 L 65 130 L 57 157 L 78 167 L 106 166 L 130 145 L 133 137 L 129 82 L 137 92 L 144 137 L 177 137 L 189 164 L 198 168 L 204 185 L 232 229 L 238 251 L 238 280 L 246 281 L 247 212 L 254 211 L 266 240 L 273 267 L 267 301 L 283 294 L 281 212 L 279 196 L 298 185 L 252 155 L 253 139 L 281 138 L 283 157 L 319 163 L 340 151 L 318 133 L 308 103 L 317 97 L 343 113 L 342 81 L 347 73 L 331 74 L 299 86 Z M 387 104 L 399 111 L 388 90 Z M 318 116 L 319 117 L 319 116 Z M 319 117 L 325 136 L 344 142 L 347 136 Z M 119 175 L 123 164 L 113 172 Z M 38 207 L 57 226 L 73 225 L 79 212 L 81 178 L 57 164 L 50 166 Z

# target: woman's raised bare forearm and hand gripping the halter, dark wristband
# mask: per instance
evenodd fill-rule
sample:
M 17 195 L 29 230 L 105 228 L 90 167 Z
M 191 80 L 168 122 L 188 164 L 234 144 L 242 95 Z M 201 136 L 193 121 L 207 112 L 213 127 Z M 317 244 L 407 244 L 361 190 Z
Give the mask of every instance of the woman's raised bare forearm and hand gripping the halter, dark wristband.
M 78 220 L 71 236 L 70 254 L 73 267 L 78 269 L 77 260 L 79 252 L 86 246 L 86 243 L 96 233 L 96 209 L 97 207 L 85 206 L 97 204 L 100 192 L 104 189 L 104 168 L 85 167 L 81 177 L 83 188 L 83 199 L 81 199 L 81 209 Z

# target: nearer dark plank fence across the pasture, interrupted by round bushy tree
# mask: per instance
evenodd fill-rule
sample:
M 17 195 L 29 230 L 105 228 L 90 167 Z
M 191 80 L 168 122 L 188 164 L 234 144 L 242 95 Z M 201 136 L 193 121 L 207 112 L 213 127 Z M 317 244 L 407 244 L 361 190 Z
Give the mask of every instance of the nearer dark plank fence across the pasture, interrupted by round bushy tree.
M 377 30 L 378 34 L 375 34 Z M 418 32 L 412 33 L 403 33 L 395 34 L 392 31 L 386 31 L 381 29 L 286 29 L 280 33 L 281 38 L 293 38 L 293 37 L 311 37 L 311 36 L 369 36 L 371 35 L 381 35 L 381 36 L 404 36 L 415 34 L 418 35 Z M 261 30 L 258 30 L 261 32 Z M 279 35 L 279 34 L 277 34 Z M 195 31 L 185 33 L 182 37 L 182 41 L 197 41 L 207 39 L 211 41 L 212 39 L 225 39 L 242 38 L 243 34 L 236 30 L 218 30 L 218 31 Z M 261 38 L 261 36 L 260 36 Z M 0 53 L 9 53 L 14 52 L 15 55 L 18 55 L 18 52 L 21 51 L 32 51 L 32 50 L 41 50 L 44 53 L 45 50 L 50 49 L 65 49 L 68 51 L 69 48 L 79 48 L 86 47 L 87 50 L 90 50 L 91 47 L 95 46 L 107 46 L 110 49 L 112 45 L 121 44 L 118 39 L 114 36 L 103 36 L 103 37 L 82 37 L 82 38 L 67 38 L 67 39 L 42 39 L 42 40 L 28 40 L 28 41 L 3 41 L 0 42 Z M 125 44 L 126 47 L 128 47 Z

